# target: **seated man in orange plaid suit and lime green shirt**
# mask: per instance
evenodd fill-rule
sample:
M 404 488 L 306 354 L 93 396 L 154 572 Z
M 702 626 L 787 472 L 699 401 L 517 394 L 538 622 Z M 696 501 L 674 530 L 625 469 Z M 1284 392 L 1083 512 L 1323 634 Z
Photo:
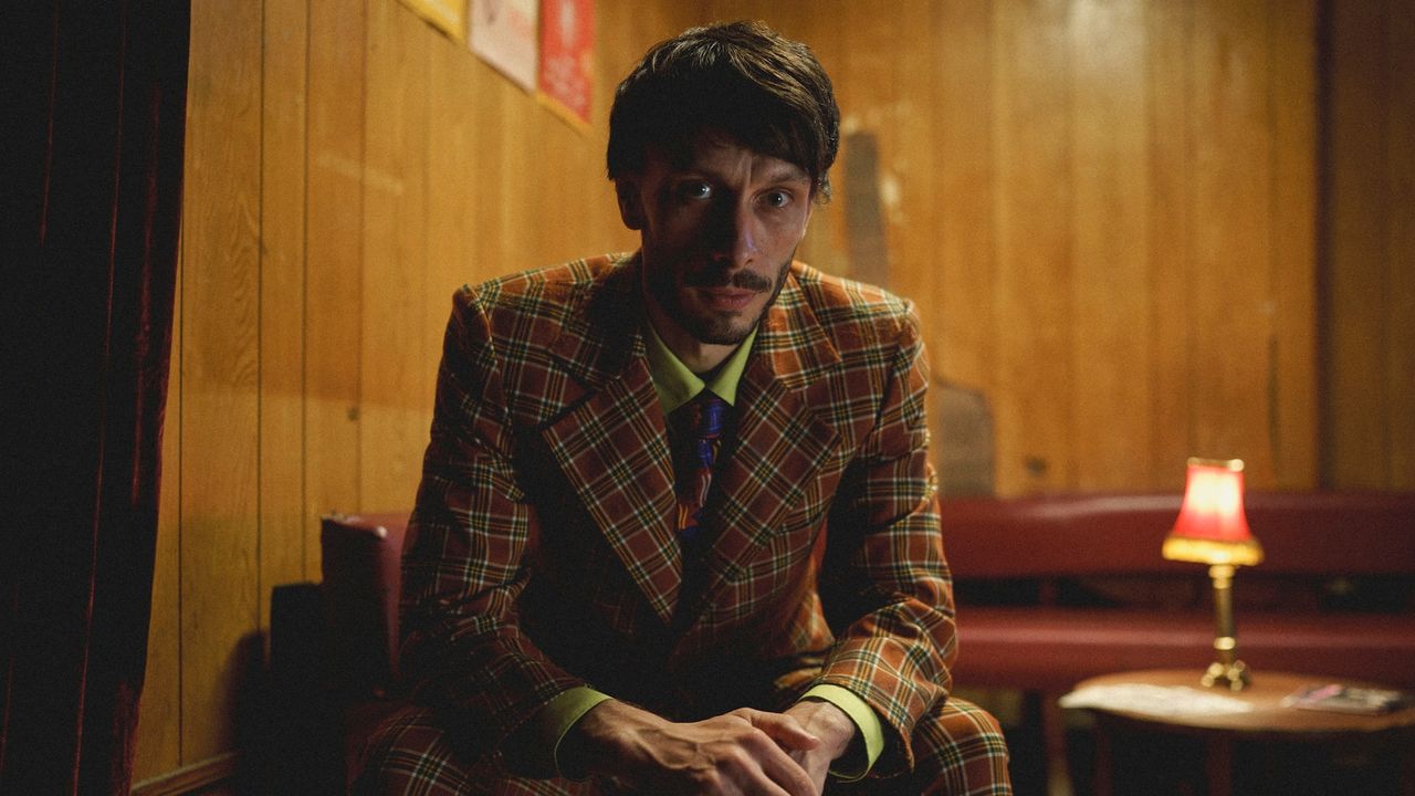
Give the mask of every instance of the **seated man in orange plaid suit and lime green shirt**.
M 686 31 L 610 118 L 640 251 L 458 293 L 371 790 L 1010 790 L 948 697 L 917 320 L 792 261 L 838 140 L 808 48 Z

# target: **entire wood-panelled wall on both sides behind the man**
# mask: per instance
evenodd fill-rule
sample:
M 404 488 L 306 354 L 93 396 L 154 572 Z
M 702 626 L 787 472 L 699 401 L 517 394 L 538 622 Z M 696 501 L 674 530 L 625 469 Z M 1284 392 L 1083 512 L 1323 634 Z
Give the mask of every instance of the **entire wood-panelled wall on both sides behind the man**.
M 194 4 L 139 779 L 233 748 L 317 516 L 412 501 L 451 290 L 634 245 L 606 99 L 699 20 L 766 18 L 831 71 L 848 146 L 802 258 L 918 302 L 935 374 L 990 402 L 1000 493 L 1179 489 L 1190 455 L 1415 489 L 1395 0 L 596 7 L 584 133 L 396 0 Z

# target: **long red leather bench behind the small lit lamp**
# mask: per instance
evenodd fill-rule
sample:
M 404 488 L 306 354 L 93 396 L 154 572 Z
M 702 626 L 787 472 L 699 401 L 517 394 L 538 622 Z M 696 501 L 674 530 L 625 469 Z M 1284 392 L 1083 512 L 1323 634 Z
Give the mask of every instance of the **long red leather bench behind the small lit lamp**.
M 1174 494 L 949 499 L 961 686 L 1060 693 L 1213 659 L 1207 568 L 1160 557 Z M 1415 688 L 1415 494 L 1249 493 L 1266 558 L 1234 581 L 1238 656 Z

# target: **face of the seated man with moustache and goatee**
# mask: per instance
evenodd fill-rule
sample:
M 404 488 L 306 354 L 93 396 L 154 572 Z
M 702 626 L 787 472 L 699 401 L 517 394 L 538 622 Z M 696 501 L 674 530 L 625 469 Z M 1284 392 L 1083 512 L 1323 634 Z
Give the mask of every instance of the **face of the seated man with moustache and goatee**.
M 732 347 L 756 327 L 805 237 L 811 187 L 801 167 L 710 135 L 681 159 L 651 149 L 641 174 L 620 178 L 620 211 L 640 231 L 649 310 L 671 348 Z

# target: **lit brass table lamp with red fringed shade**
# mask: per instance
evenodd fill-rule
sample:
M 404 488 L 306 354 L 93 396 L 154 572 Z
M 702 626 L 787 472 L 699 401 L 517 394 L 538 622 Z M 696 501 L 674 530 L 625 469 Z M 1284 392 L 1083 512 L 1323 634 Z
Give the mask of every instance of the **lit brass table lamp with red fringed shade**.
M 1214 652 L 1200 678 L 1241 691 L 1249 684 L 1248 666 L 1238 660 L 1234 636 L 1234 571 L 1262 561 L 1262 545 L 1248 531 L 1242 510 L 1242 459 L 1190 459 L 1184 503 L 1162 550 L 1170 561 L 1208 564 L 1214 581 Z

